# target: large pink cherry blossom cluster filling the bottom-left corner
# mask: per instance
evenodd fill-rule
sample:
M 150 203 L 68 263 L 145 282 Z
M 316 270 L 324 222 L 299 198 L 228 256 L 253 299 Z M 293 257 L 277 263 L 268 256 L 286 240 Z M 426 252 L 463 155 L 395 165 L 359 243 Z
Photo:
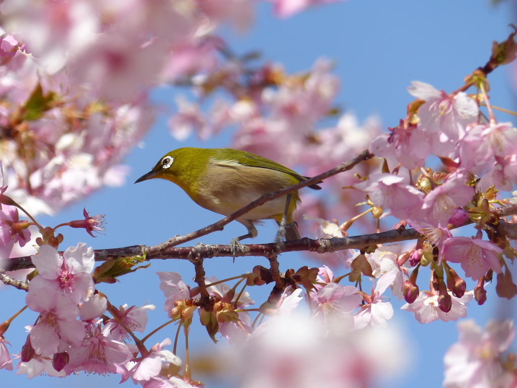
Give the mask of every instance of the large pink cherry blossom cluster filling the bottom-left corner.
M 171 344 L 169 338 L 149 350 L 129 343 L 130 335 L 144 332 L 147 311 L 155 306 L 113 308 L 95 289 L 90 274 L 95 263 L 92 248 L 79 243 L 60 254 L 54 247 L 42 245 L 32 261 L 38 274 L 29 282 L 25 302 L 38 317 L 26 327 L 26 342 L 15 357 L 18 374 L 32 379 L 42 373 L 65 377 L 88 371 L 119 374 L 121 381 L 131 378 L 143 386 L 192 386 L 176 376 L 181 360 L 163 349 Z M 113 318 L 108 319 L 108 312 Z M 0 367 L 12 370 L 6 343 L 2 335 Z M 139 352 L 141 357 L 135 358 Z

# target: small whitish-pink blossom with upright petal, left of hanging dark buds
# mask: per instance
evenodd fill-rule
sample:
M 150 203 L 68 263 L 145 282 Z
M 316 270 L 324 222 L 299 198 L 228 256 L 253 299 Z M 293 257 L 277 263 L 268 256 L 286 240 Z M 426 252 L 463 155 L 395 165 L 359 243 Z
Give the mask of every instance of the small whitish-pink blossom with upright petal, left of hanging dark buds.
M 392 270 L 377 279 L 375 289 L 372 287 L 372 295 L 366 305 L 354 315 L 354 329 L 360 330 L 367 325 L 386 327 L 387 320 L 393 316 L 393 307 L 389 302 L 383 302 L 383 292 L 393 284 L 397 277 L 397 271 Z

